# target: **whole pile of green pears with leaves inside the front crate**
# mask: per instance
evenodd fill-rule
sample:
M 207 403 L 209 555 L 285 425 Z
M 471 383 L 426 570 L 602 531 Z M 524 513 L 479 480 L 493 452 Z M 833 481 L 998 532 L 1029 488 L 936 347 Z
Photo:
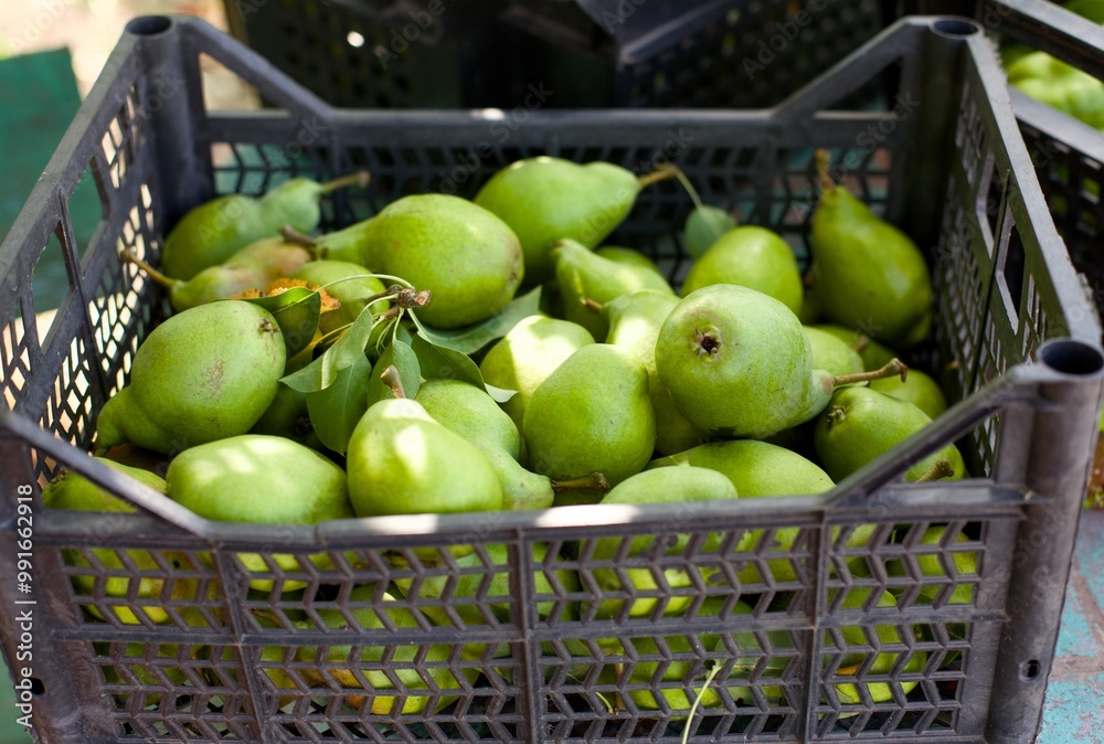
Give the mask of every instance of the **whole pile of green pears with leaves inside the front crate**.
M 602 245 L 643 189 L 672 177 L 684 179 L 673 169 L 638 177 L 613 163 L 538 157 L 503 168 L 471 200 L 408 195 L 317 236 L 307 233 L 317 230 L 322 194 L 363 188 L 367 177 L 325 185 L 293 179 L 258 199 L 202 204 L 164 240 L 160 268 L 121 257 L 163 286 L 176 312 L 137 348 L 128 383 L 99 411 L 95 455 L 124 467 L 112 459 L 120 451 L 155 453 L 166 466 L 164 479 L 139 477 L 202 519 L 318 524 L 820 493 L 942 413 L 940 385 L 899 358 L 925 340 L 932 317 L 925 259 L 906 235 L 822 178 L 810 223 L 811 269 L 803 276 L 782 236 L 737 225 L 724 210 L 699 203 L 683 235 L 692 263 L 684 280 L 672 285 L 645 254 Z M 960 454 L 948 445 L 904 478 L 966 475 Z M 53 508 L 128 510 L 75 476 L 47 490 Z M 792 549 L 797 533 L 773 530 L 773 549 Z M 683 613 L 691 604 L 686 592 L 659 597 L 657 591 L 718 580 L 715 572 L 697 576 L 684 565 L 666 570 L 661 582 L 647 565 L 620 567 L 624 561 L 681 555 L 691 535 L 676 538 L 640 535 L 627 548 L 615 538 L 593 541 L 586 560 L 599 564 L 590 584 L 601 595 L 598 617 Z M 869 538 L 870 529 L 853 530 L 848 545 Z M 763 539 L 763 530 L 750 530 L 726 550 L 754 551 Z M 932 540 L 937 543 L 938 535 L 925 535 Z M 97 554 L 102 564 L 120 565 L 118 552 L 104 550 Z M 716 552 L 720 539 L 694 550 Z M 448 551 L 457 565 L 473 560 L 471 545 Z M 487 552 L 505 581 L 505 545 Z M 534 546 L 534 561 L 544 561 L 545 552 Z M 395 560 L 412 555 L 440 560 L 440 551 L 428 548 Z M 301 551 L 237 555 L 250 589 L 262 593 L 301 591 L 307 574 L 333 571 L 338 557 Z M 71 559 L 88 564 L 84 555 Z M 141 567 L 151 559 L 130 561 Z M 358 557 L 341 561 L 355 565 Z M 924 564 L 930 570 L 941 573 Z M 786 560 L 737 571 L 749 585 L 796 578 Z M 570 575 L 559 583 L 581 592 L 574 572 L 563 573 Z M 188 582 L 176 586 L 185 599 L 189 591 L 194 598 Z M 171 616 L 157 607 L 158 597 L 168 596 L 162 588 L 150 583 L 136 595 L 123 577 L 112 578 L 104 592 L 119 599 L 116 621 L 160 624 Z M 463 595 L 479 587 L 460 582 L 447 588 Z M 76 589 L 89 593 L 79 583 Z M 495 612 L 506 619 L 509 588 L 499 589 L 503 598 Z M 452 625 L 457 616 L 404 603 L 410 593 L 425 599 L 440 591 L 432 581 L 363 585 L 353 595 L 381 608 L 391 603 L 390 620 L 365 609 L 355 617 L 332 612 L 325 621 L 333 628 L 352 619 L 374 628 Z M 146 617 L 121 600 L 135 596 L 144 598 Z M 786 600 L 785 592 L 778 596 Z M 933 602 L 934 594 L 914 600 Z M 894 602 L 890 593 L 878 598 L 879 606 Z M 100 605 L 86 607 L 103 619 Z M 465 623 L 488 620 L 470 609 L 457 610 Z M 707 603 L 700 612 L 719 609 Z M 542 605 L 545 612 L 551 609 Z M 570 603 L 561 620 L 580 612 Z M 741 605 L 735 612 L 751 609 Z M 853 630 L 862 645 L 861 629 Z M 878 635 L 887 645 L 901 644 L 899 631 L 887 626 Z M 635 653 L 655 651 L 645 648 L 655 641 L 641 644 Z M 737 634 L 711 638 L 705 649 L 739 656 L 757 644 Z M 766 677 L 781 676 L 794 649 L 785 633 L 772 644 L 782 656 L 769 660 Z M 598 645 L 612 657 L 628 652 L 622 641 Z M 300 648 L 295 658 L 340 666 L 352 663 L 348 650 Z M 365 669 L 379 668 L 378 650 L 358 652 Z M 473 647 L 465 658 L 490 652 Z M 880 655 L 874 671 L 894 668 L 898 652 Z M 285 657 L 265 649 L 263 658 Z M 449 657 L 433 647 L 428 658 Z M 729 688 L 733 699 L 754 702 L 746 679 L 756 659 L 740 657 L 716 690 Z M 848 657 L 852 661 L 859 663 Z M 922 665 L 923 655 L 914 653 L 904 669 Z M 670 666 L 664 681 L 683 681 L 689 672 L 682 666 Z M 639 663 L 631 680 L 654 681 L 655 671 L 655 665 L 649 670 Z M 295 683 L 277 672 L 266 671 L 280 695 L 290 695 Z M 364 674 L 378 688 L 393 685 L 381 672 Z M 333 679 L 355 689 L 348 698 L 353 705 L 363 699 L 354 674 L 316 677 L 320 684 Z M 414 672 L 400 677 L 427 690 Z M 450 690 L 469 682 L 438 680 Z M 845 680 L 836 693 L 845 701 L 893 699 L 888 685 L 871 684 L 860 694 L 858 684 Z M 675 687 L 664 691 L 664 705 L 688 709 L 691 699 Z M 782 689 L 767 685 L 761 694 L 779 704 Z M 716 690 L 700 704 L 721 704 Z M 393 712 L 421 712 L 448 700 L 428 691 L 378 695 L 372 710 L 385 713 L 394 703 Z M 660 708 L 654 691 L 635 694 L 633 704 Z

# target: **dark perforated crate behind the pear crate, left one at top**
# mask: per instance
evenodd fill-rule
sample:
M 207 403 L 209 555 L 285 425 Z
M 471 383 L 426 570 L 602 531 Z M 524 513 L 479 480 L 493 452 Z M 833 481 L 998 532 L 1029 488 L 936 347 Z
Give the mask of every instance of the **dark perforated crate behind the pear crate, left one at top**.
M 512 100 L 502 64 L 509 41 L 495 21 L 506 2 L 225 0 L 224 8 L 238 40 L 333 106 L 461 108 Z

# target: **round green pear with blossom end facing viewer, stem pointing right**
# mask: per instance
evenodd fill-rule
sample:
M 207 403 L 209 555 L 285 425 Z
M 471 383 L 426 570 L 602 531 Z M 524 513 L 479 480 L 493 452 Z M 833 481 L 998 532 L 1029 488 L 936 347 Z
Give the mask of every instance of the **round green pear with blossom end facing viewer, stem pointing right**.
M 762 439 L 816 416 L 834 387 L 900 374 L 834 376 L 813 368 L 800 321 L 768 295 L 732 284 L 691 293 L 656 342 L 656 369 L 687 421 L 720 438 Z

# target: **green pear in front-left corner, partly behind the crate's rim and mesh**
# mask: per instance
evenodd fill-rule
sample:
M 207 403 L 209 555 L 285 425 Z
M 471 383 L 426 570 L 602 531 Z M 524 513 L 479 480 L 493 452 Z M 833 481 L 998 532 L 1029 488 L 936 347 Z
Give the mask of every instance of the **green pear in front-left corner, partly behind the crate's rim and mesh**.
M 166 490 L 164 479 L 155 472 L 100 457 L 93 459 L 130 476 L 156 491 L 163 493 Z M 63 471 L 46 483 L 42 489 L 42 503 L 46 509 L 70 511 L 127 514 L 138 512 L 138 509 L 128 501 L 124 501 L 110 491 L 96 486 L 83 476 L 68 471 Z M 120 555 L 123 552 L 126 553 L 125 560 Z M 95 562 L 89 560 L 83 551 L 76 549 L 62 551 L 66 565 L 82 570 L 72 575 L 73 588 L 79 596 L 95 596 L 97 578 L 94 573 L 108 572 L 107 578 L 104 580 L 104 596 L 108 602 L 102 605 L 84 605 L 88 614 L 97 619 L 105 619 L 104 612 L 109 610 L 124 625 L 141 625 L 144 621 L 168 623 L 171 618 L 162 605 L 167 582 L 171 583 L 169 593 L 172 599 L 195 599 L 198 589 L 195 580 L 172 578 L 164 575 L 166 562 L 174 568 L 194 570 L 192 559 L 187 553 L 176 551 L 162 553 L 146 550 L 119 551 L 113 548 L 93 548 L 91 553 L 95 557 Z M 158 561 L 155 554 L 161 555 L 162 560 Z M 131 565 L 134 568 L 130 567 Z M 127 575 L 135 570 L 141 572 L 141 575 Z M 131 583 L 137 584 L 137 589 L 132 595 Z M 134 599 L 129 598 L 131 596 Z

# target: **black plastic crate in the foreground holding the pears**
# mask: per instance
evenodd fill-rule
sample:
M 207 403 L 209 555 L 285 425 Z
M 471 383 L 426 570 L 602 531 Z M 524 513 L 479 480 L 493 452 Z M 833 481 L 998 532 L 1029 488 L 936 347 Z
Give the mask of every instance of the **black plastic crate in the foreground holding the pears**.
M 283 110 L 205 111 L 201 54 Z M 826 113 L 887 71 L 909 107 Z M 0 613 L 0 640 L 40 741 L 673 743 L 684 713 L 652 710 L 649 695 L 686 701 L 714 663 L 714 699 L 691 722 L 693 742 L 1031 741 L 1104 352 L 978 26 L 902 21 L 773 110 L 543 111 L 492 144 L 496 121 L 331 109 L 202 22 L 130 24 L 0 246 L 2 390 L 13 412 L 0 413 L 0 597 L 18 610 Z M 308 127 L 317 136 L 304 144 Z M 198 519 L 85 456 L 97 412 L 167 311 L 118 252 L 156 263 L 173 221 L 216 192 L 368 168 L 365 194 L 326 203 L 332 227 L 405 193 L 474 193 L 520 157 L 641 171 L 672 160 L 707 201 L 739 208 L 743 222 L 778 230 L 800 252 L 820 147 L 847 168 L 849 188 L 927 251 L 937 293 L 928 363 L 963 398 L 829 493 L 270 528 Z M 465 178 L 458 162 L 469 163 Z M 78 245 L 66 203 L 87 173 L 104 219 Z M 1000 205 L 992 215 L 990 198 Z M 612 240 L 677 278 L 690 208 L 681 190 L 658 184 Z M 55 244 L 72 286 L 40 334 L 22 322 L 34 313 L 28 277 Z M 911 463 L 954 440 L 975 478 L 900 482 Z M 39 489 L 63 467 L 140 513 L 43 511 Z M 33 519 L 29 581 L 15 571 L 21 517 Z M 923 541 L 932 525 L 946 530 L 934 545 Z M 659 548 L 628 554 L 640 536 Z M 602 539 L 619 545 L 613 557 L 596 553 Z M 456 545 L 473 553 L 454 560 Z M 242 552 L 267 556 L 270 572 L 248 573 Z M 325 553 L 333 567 L 302 560 L 288 572 L 272 561 L 283 553 Z M 955 567 L 963 553 L 974 573 Z M 630 570 L 651 573 L 658 588 L 624 578 L 611 588 L 611 575 Z M 686 582 L 664 578 L 678 572 Z M 114 596 L 109 578 L 132 591 Z M 251 589 L 251 578 L 272 586 Z M 139 580 L 160 593 L 139 594 Z M 478 588 L 454 595 L 461 580 Z M 392 583 L 406 587 L 395 604 L 382 596 Z M 361 584 L 375 587 L 362 608 L 403 619 L 329 627 L 321 613 L 357 607 L 348 593 Z M 968 600 L 954 600 L 963 586 Z M 849 609 L 847 596 L 870 600 Z M 599 617 L 603 603 L 637 600 L 650 609 Z M 19 619 L 28 608 L 30 629 Z M 18 662 L 24 631 L 28 672 Z M 890 699 L 874 701 L 871 685 Z

